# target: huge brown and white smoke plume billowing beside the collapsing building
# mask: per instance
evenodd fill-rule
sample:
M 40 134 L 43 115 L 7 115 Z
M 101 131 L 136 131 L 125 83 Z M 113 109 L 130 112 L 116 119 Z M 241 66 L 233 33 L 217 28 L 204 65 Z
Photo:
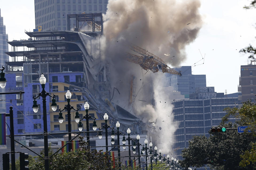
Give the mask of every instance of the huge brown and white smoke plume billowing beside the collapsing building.
M 122 56 L 131 52 L 129 44 L 136 44 L 167 64 L 179 66 L 186 59 L 186 45 L 195 40 L 202 25 L 199 7 L 199 0 L 109 0 L 103 15 L 104 57 L 111 60 L 111 88 L 116 87 L 121 93 L 113 101 L 127 111 L 131 109 L 145 122 L 155 123 L 164 153 L 170 152 L 174 143 L 171 141 L 174 93 L 163 85 L 163 74 L 167 73 L 145 74 L 138 64 L 123 61 Z M 133 104 L 129 105 L 131 76 L 136 77 L 137 88 Z

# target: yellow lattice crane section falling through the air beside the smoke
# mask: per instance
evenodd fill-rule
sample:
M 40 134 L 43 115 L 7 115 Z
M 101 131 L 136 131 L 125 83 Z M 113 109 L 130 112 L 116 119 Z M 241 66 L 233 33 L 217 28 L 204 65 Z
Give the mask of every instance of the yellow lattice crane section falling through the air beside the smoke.
M 127 53 L 125 59 L 132 63 L 139 64 L 144 70 L 151 70 L 153 73 L 161 71 L 163 73 L 177 74 L 181 76 L 180 71 L 176 71 L 167 66 L 162 59 L 157 57 L 156 55 L 146 51 L 143 48 L 140 48 L 136 45 L 130 45 L 130 49 L 136 53 L 139 53 L 142 56 L 137 56 L 131 53 Z

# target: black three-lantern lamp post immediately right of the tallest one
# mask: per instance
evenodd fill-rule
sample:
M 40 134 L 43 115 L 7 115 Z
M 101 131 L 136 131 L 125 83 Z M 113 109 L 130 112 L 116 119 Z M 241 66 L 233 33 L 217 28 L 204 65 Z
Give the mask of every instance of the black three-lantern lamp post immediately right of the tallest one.
M 59 122 L 60 123 L 62 123 L 63 122 L 63 116 L 62 116 L 62 113 L 61 113 L 61 111 L 63 111 L 63 110 L 67 110 L 68 111 L 68 140 L 70 141 L 71 140 L 71 113 L 70 113 L 70 111 L 73 109 L 73 110 L 75 110 L 76 111 L 76 114 L 79 114 L 78 113 L 78 108 L 77 109 L 74 109 L 74 107 L 73 106 L 71 106 L 70 105 L 70 99 L 71 99 L 71 97 L 72 97 L 72 94 L 70 93 L 70 91 L 68 90 L 67 91 L 67 93 L 65 94 L 66 95 L 66 98 L 67 98 L 67 101 L 68 101 L 68 105 L 66 105 L 66 106 L 64 106 L 64 108 L 61 110 L 61 108 L 59 109 L 59 111 L 60 111 L 60 113 L 59 113 L 59 118 L 58 118 L 58 120 L 59 120 Z M 69 142 L 69 144 L 68 144 L 68 148 L 69 148 L 69 151 L 71 150 L 71 148 L 72 148 L 72 143 L 70 143 Z M 68 151 L 68 152 L 69 152 Z

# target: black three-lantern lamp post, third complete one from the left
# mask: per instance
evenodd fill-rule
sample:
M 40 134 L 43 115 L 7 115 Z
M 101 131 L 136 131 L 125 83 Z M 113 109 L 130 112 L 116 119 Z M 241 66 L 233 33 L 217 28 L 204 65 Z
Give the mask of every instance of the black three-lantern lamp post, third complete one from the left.
M 93 129 L 94 131 L 97 129 L 97 125 L 96 125 L 96 121 L 95 121 L 96 117 L 93 118 L 92 116 L 90 116 L 90 115 L 88 114 L 89 107 L 90 107 L 90 106 L 89 106 L 88 102 L 86 101 L 86 102 L 84 103 L 84 109 L 85 109 L 86 115 L 83 116 L 82 119 L 80 119 L 79 114 L 78 114 L 78 112 L 77 112 L 77 113 L 76 113 L 76 116 L 75 116 L 75 121 L 76 121 L 76 123 L 79 122 L 79 125 L 78 125 L 78 130 L 79 130 L 79 131 L 82 131 L 82 130 L 83 130 L 83 126 L 82 126 L 81 120 L 86 119 L 86 140 L 87 140 L 88 146 L 90 146 L 89 119 L 93 119 L 93 120 L 94 120 L 94 121 L 93 121 L 93 125 L 92 125 L 92 129 Z

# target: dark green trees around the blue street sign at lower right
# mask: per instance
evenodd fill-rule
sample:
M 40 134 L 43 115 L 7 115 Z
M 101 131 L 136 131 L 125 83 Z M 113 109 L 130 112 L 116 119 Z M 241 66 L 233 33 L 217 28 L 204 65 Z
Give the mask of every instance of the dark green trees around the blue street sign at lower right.
M 188 148 L 182 151 L 183 167 L 202 167 L 209 165 L 212 169 L 256 169 L 256 104 L 247 101 L 238 109 L 226 108 L 227 115 L 218 127 L 237 128 L 237 126 L 252 126 L 254 133 L 238 133 L 237 130 L 227 130 L 206 136 L 193 136 Z M 230 116 L 238 118 L 233 124 L 228 121 Z M 210 133 L 210 131 L 209 131 Z

